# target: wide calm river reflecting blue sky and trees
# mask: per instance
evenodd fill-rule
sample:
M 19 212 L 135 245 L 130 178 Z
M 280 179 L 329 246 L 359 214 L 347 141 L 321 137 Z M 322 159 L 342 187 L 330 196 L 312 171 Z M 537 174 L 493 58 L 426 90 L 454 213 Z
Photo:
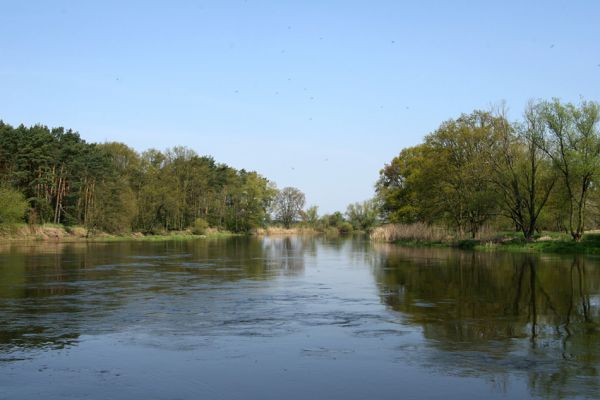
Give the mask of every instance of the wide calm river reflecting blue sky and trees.
M 0 247 L 0 399 L 600 395 L 600 259 L 361 237 Z

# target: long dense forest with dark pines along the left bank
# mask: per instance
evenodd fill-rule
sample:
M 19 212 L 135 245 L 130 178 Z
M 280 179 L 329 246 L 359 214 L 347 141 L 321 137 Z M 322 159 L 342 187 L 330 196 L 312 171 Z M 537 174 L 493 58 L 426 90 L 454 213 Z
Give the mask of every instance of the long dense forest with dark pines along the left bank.
M 123 233 L 263 226 L 277 190 L 185 147 L 138 154 L 122 143 L 0 121 L 0 222 L 81 225 Z

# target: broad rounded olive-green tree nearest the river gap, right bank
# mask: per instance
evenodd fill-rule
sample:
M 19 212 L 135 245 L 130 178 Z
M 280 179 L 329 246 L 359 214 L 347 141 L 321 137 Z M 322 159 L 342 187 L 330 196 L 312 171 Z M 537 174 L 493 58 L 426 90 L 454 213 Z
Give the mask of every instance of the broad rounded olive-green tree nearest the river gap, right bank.
M 498 209 L 486 156 L 494 123 L 490 113 L 474 111 L 402 150 L 380 172 L 376 186 L 384 219 L 445 224 L 475 237 Z

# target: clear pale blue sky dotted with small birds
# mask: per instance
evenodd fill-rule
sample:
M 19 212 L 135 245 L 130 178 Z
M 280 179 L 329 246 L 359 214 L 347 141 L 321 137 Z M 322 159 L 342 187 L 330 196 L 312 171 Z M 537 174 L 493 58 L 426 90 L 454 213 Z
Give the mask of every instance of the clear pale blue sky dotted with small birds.
M 600 101 L 598 1 L 0 0 L 0 119 L 184 145 L 320 213 L 441 122 Z

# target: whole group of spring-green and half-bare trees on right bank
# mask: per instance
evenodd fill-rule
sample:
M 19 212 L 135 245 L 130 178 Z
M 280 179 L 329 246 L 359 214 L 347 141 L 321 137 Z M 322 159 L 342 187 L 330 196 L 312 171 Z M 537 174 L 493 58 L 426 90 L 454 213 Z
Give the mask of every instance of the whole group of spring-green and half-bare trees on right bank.
M 530 102 L 511 121 L 504 106 L 448 120 L 385 165 L 376 185 L 386 221 L 540 230 L 579 241 L 598 227 L 600 105 Z

